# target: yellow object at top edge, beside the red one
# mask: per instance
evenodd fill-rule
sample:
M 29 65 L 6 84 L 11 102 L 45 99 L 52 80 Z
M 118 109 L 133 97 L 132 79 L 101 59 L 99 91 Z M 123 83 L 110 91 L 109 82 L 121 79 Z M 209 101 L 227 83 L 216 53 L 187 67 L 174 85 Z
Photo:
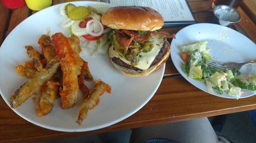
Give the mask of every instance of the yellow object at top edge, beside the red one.
M 27 6 L 33 11 L 40 11 L 52 5 L 52 0 L 25 0 Z

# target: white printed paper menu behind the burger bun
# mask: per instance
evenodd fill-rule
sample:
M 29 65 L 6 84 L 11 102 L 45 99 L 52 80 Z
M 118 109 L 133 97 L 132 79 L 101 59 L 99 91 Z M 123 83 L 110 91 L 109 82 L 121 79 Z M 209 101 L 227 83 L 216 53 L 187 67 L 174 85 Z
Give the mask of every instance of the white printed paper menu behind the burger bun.
M 186 0 L 107 0 L 115 6 L 147 6 L 158 11 L 165 23 L 194 21 Z

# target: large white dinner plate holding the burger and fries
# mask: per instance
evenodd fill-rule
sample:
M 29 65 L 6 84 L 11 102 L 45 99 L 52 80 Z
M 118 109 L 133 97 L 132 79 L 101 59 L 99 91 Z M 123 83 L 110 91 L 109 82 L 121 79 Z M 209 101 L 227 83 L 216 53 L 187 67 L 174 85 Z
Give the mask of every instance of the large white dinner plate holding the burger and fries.
M 106 4 L 86 1 L 72 3 L 76 6 Z M 37 42 L 42 34 L 47 34 L 47 31 L 50 31 L 50 35 L 62 32 L 69 36 L 68 30 L 60 27 L 64 17 L 61 16 L 59 8 L 65 4 L 67 3 L 51 6 L 28 17 L 17 25 L 3 42 L 0 48 L 0 94 L 8 106 L 10 106 L 11 94 L 27 81 L 15 73 L 15 66 L 30 60 L 24 46 L 32 45 L 36 50 L 41 51 Z M 128 118 L 142 108 L 159 87 L 165 69 L 164 64 L 148 76 L 128 77 L 116 70 L 108 55 L 89 57 L 80 54 L 80 56 L 88 62 L 94 81 L 101 79 L 112 87 L 111 94 L 105 93 L 100 96 L 99 105 L 89 110 L 81 126 L 76 124 L 83 101 L 80 91 L 75 107 L 61 109 L 60 98 L 58 98 L 52 112 L 41 118 L 36 114 L 36 104 L 40 94 L 35 96 L 36 102 L 29 98 L 13 111 L 31 123 L 52 130 L 83 132 L 104 128 Z M 93 89 L 94 81 L 86 82 L 89 89 Z

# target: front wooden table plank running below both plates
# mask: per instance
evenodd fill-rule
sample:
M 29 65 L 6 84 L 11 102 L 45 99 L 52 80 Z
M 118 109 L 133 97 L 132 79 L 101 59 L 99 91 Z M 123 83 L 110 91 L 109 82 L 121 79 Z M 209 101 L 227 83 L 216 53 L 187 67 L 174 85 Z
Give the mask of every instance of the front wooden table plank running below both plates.
M 0 109 L 0 143 L 35 143 L 256 109 L 256 96 L 239 100 L 220 98 L 199 90 L 183 77 L 167 78 L 163 79 L 153 98 L 134 115 L 91 132 L 57 132 L 41 128 L 20 118 L 2 99 Z

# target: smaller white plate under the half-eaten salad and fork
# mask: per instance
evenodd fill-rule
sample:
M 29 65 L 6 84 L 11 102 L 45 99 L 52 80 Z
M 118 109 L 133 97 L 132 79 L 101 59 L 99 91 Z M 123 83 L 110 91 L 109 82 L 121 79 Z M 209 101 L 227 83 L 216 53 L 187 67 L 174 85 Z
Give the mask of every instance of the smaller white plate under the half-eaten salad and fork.
M 216 62 L 246 62 L 249 60 L 255 60 L 256 56 L 256 45 L 248 39 L 246 36 L 239 32 L 227 28 L 225 26 L 210 24 L 210 23 L 199 23 L 189 25 L 181 29 L 176 34 L 176 39 L 172 40 L 171 43 L 171 57 L 172 62 L 179 71 L 179 73 L 191 84 L 199 89 L 209 93 L 206 85 L 194 79 L 190 79 L 186 73 L 183 72 L 182 66 L 184 64 L 182 59 L 182 51 L 180 46 L 190 45 L 196 42 L 208 41 L 207 48 L 210 48 L 210 55 L 212 60 Z M 242 67 L 242 73 L 256 73 L 256 64 L 253 67 Z M 248 90 L 241 90 L 241 97 L 246 98 L 254 95 Z M 236 98 L 223 93 L 222 95 L 216 93 L 210 93 L 224 98 Z

